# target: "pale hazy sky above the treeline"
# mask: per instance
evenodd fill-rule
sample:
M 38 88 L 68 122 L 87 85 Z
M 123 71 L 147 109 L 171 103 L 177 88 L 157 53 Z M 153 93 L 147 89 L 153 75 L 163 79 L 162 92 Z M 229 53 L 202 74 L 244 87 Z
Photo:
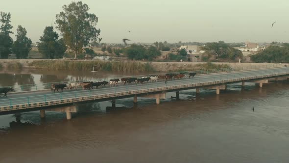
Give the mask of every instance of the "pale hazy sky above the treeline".
M 75 0 L 76 1 L 76 0 Z M 33 42 L 71 0 L 0 0 Z M 288 0 L 82 0 L 98 16 L 105 43 L 289 42 Z M 277 23 L 271 28 L 271 24 Z M 128 32 L 131 30 L 131 33 Z M 13 38 L 15 34 L 13 34 Z

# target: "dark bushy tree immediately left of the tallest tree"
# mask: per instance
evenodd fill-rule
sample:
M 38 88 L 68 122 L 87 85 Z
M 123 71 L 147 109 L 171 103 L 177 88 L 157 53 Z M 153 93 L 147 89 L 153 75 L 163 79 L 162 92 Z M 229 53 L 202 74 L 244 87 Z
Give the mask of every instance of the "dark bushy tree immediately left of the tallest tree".
M 48 59 L 61 58 L 67 48 L 64 41 L 58 40 L 58 37 L 53 27 L 45 27 L 43 36 L 40 37 L 38 51 Z

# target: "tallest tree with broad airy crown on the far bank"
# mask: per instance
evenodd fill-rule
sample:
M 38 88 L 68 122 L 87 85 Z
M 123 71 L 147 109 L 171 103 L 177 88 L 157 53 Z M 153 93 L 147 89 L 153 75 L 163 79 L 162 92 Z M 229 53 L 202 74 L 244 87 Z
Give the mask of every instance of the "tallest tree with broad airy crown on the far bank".
M 57 29 L 60 30 L 64 42 L 74 53 L 81 54 L 82 48 L 90 42 L 97 41 L 100 29 L 96 29 L 98 17 L 88 13 L 89 7 L 82 1 L 64 5 L 62 12 L 56 15 Z M 101 41 L 101 38 L 98 38 Z

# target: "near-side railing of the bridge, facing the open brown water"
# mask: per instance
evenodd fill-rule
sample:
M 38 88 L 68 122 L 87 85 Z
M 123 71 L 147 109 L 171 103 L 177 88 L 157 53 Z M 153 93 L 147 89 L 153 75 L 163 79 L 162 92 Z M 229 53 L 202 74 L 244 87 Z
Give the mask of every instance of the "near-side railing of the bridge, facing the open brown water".
M 274 69 L 266 70 L 263 72 L 250 72 L 250 73 L 243 73 L 243 74 L 227 74 L 222 76 L 209 76 L 207 78 L 196 78 L 196 79 L 185 79 L 185 80 L 178 80 L 178 81 L 168 81 L 168 82 L 153 82 L 153 83 L 146 83 L 146 84 L 138 84 L 138 85 L 123 85 L 118 87 L 110 87 L 110 88 L 103 88 L 103 89 L 93 89 L 93 90 L 79 90 L 79 91 L 67 91 L 63 93 L 51 93 L 45 95 L 37 95 L 37 96 L 28 96 L 28 97 L 19 97 L 13 99 L 2 99 L 0 100 L 0 107 L 6 106 L 6 109 L 1 109 L 0 111 L 13 109 L 13 106 L 16 105 L 24 105 L 29 107 L 33 107 L 35 103 L 43 103 L 43 106 L 48 106 L 52 102 L 55 104 L 55 101 L 59 101 L 59 103 L 64 102 L 67 99 L 74 99 L 73 102 L 82 101 L 82 97 L 93 97 L 98 95 L 100 98 L 108 97 L 108 94 L 115 94 L 115 95 L 122 95 L 121 93 L 125 92 L 145 92 L 150 89 L 156 88 L 164 88 L 166 87 L 167 90 L 173 86 L 182 86 L 188 84 L 209 84 L 209 83 L 223 83 L 229 81 L 236 81 L 236 80 L 245 80 L 245 79 L 258 79 L 260 77 L 268 77 L 268 76 L 278 76 L 284 75 L 284 73 L 289 74 L 289 69 L 276 71 Z

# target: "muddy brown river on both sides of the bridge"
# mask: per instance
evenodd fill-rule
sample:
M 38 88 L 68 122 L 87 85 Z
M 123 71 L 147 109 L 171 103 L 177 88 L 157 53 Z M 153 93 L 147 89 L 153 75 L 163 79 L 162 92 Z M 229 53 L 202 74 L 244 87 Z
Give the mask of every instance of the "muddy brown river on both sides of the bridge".
M 0 72 L 0 85 L 110 78 L 108 72 Z M 16 77 L 17 76 L 17 77 Z M 44 78 L 46 76 L 46 78 Z M 43 80 L 46 79 L 46 80 Z M 13 85 L 13 84 L 12 84 Z M 80 112 L 0 115 L 0 163 L 288 163 L 289 83 L 167 93 L 78 105 Z M 2 98 L 2 97 L 1 97 Z M 252 107 L 255 111 L 252 111 Z

